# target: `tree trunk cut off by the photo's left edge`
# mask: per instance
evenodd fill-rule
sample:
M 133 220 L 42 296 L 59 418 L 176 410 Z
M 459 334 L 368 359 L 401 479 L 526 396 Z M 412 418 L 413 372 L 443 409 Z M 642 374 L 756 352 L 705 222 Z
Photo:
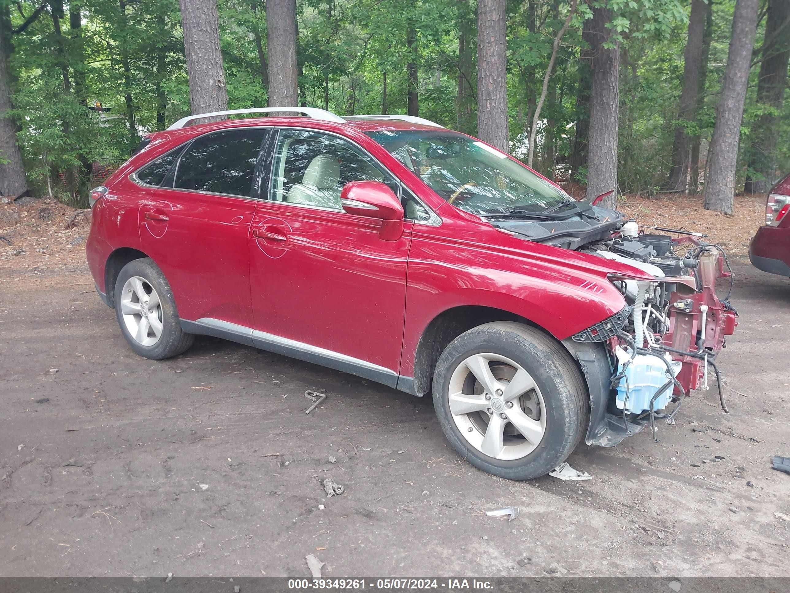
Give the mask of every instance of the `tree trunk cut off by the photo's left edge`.
M 0 19 L 0 196 L 16 198 L 28 189 L 28 180 L 24 176 L 22 155 L 17 145 L 17 126 L 6 117 L 6 111 L 13 107 L 6 55 L 8 34 L 6 19 Z

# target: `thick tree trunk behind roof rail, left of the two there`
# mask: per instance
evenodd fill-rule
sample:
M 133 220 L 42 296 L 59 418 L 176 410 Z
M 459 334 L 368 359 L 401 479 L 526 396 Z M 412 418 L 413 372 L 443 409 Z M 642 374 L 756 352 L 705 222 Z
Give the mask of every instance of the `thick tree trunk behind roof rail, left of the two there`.
M 228 109 L 216 0 L 180 0 L 193 115 Z M 270 4 L 275 4 L 270 0 Z

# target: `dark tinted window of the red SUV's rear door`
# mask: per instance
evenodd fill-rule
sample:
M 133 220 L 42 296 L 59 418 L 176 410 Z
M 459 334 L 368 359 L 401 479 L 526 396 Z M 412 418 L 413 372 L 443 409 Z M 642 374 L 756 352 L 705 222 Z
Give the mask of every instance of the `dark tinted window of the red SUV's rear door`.
M 175 187 L 251 197 L 266 130 L 225 130 L 197 138 L 183 154 Z

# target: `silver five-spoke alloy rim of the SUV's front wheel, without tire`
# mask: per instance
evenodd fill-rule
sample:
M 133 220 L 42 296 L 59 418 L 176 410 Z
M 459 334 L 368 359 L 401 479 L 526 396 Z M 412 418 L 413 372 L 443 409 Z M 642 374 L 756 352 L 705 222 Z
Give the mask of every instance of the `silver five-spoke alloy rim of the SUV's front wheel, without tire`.
M 507 357 L 472 354 L 450 377 L 450 413 L 472 447 L 495 459 L 521 459 L 546 432 L 545 403 L 532 376 Z

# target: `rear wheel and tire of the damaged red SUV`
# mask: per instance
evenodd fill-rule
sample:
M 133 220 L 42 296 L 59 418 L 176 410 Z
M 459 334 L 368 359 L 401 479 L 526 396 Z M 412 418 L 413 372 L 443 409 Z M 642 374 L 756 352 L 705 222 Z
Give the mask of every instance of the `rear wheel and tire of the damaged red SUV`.
M 194 335 L 181 329 L 167 278 L 150 258 L 123 266 L 115 281 L 115 316 L 126 342 L 141 357 L 161 361 L 184 352 Z

